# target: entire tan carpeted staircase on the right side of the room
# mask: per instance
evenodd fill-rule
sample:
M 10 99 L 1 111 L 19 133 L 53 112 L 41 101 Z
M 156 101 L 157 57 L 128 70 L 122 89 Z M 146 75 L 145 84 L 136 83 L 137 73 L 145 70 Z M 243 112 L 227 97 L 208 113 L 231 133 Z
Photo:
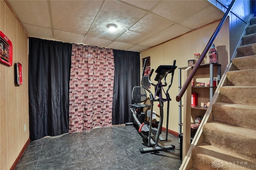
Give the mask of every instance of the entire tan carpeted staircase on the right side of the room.
M 203 126 L 204 142 L 192 150 L 193 170 L 256 170 L 256 17 Z

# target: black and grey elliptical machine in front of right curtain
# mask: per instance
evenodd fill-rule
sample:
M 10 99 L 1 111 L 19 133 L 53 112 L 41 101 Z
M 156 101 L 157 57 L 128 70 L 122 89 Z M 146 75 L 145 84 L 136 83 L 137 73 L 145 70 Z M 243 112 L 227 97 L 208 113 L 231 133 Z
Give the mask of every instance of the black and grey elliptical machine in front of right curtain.
M 152 73 L 154 72 L 154 69 L 151 70 L 150 75 L 148 76 L 148 81 L 149 83 L 155 87 L 155 94 L 153 95 L 151 91 L 144 85 L 143 83 L 143 78 L 144 78 L 144 72 L 146 69 L 146 63 L 147 59 L 144 61 L 144 66 L 143 66 L 143 71 L 142 71 L 142 80 L 141 80 L 141 86 L 135 86 L 132 90 L 132 100 L 135 102 L 135 104 L 132 104 L 132 108 L 130 108 L 130 111 L 132 112 L 132 117 L 134 119 L 134 123 L 139 127 L 139 133 L 142 136 L 142 138 L 147 140 L 147 148 L 141 148 L 140 152 L 141 153 L 148 153 L 148 152 L 157 152 L 161 150 L 170 150 L 174 149 L 174 145 L 170 146 L 160 146 L 158 144 L 158 140 L 160 141 L 167 141 L 168 140 L 168 132 L 166 132 L 165 138 L 162 138 L 160 136 L 162 132 L 162 124 L 163 124 L 163 118 L 164 118 L 164 102 L 167 101 L 167 114 L 166 114 L 166 130 L 168 130 L 168 119 L 169 119 L 169 107 L 170 107 L 170 95 L 168 93 L 171 85 L 172 85 L 172 80 L 173 80 L 173 75 L 174 75 L 174 70 L 177 68 L 176 60 L 174 60 L 173 65 L 160 65 L 156 69 L 156 77 L 155 81 L 157 81 L 157 84 L 152 83 L 151 81 L 151 76 Z M 162 94 L 164 92 L 163 87 L 167 86 L 166 83 L 166 77 L 168 74 L 171 74 L 171 81 L 170 84 L 166 90 L 166 99 L 163 98 Z M 162 79 L 164 79 L 164 84 L 162 84 Z M 147 104 L 140 104 L 147 99 L 147 94 L 146 91 L 148 91 L 149 96 L 150 96 L 150 105 Z M 159 123 L 158 127 L 152 127 L 152 115 L 153 115 L 153 106 L 154 102 L 158 102 L 158 107 L 159 107 Z M 144 123 L 144 118 L 145 118 L 145 113 L 141 112 L 141 109 L 144 107 L 150 107 L 150 121 L 148 124 Z M 133 125 L 134 123 L 126 123 L 126 125 Z M 155 136 L 155 137 L 154 137 Z

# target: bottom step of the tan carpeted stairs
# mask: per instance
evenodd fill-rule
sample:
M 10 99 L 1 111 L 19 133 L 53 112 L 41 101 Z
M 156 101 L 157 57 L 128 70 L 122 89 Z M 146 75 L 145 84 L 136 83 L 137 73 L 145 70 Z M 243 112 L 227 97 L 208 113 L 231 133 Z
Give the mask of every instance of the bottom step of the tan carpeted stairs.
M 193 148 L 192 155 L 197 170 L 248 170 L 256 167 L 253 161 L 206 143 Z

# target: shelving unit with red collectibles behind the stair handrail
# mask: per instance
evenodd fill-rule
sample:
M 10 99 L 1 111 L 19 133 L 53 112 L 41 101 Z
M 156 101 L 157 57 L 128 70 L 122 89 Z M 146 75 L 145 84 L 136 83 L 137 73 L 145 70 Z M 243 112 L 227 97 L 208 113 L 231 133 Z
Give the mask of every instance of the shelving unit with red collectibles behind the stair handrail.
M 182 86 L 182 80 L 186 80 L 188 77 L 187 74 L 190 73 L 190 70 L 193 69 L 194 66 L 189 67 L 180 67 L 178 68 L 178 88 L 179 91 Z M 206 63 L 201 64 L 196 71 L 196 74 L 193 77 L 192 86 L 189 86 L 187 92 L 190 93 L 184 95 L 187 99 L 181 99 L 179 101 L 179 133 L 182 134 L 182 115 L 186 115 L 186 111 L 189 111 L 191 114 L 191 136 L 190 138 L 193 139 L 195 132 L 196 132 L 196 124 L 195 119 L 196 117 L 203 117 L 204 113 L 207 110 L 210 101 L 212 100 L 213 94 L 216 90 L 216 87 L 220 81 L 220 67 L 221 65 L 218 63 Z M 183 70 L 183 73 L 182 73 Z M 194 85 L 194 86 L 193 86 Z M 191 99 L 188 99 L 191 97 Z M 184 100 L 191 101 L 191 105 L 183 105 Z M 183 108 L 183 109 L 182 109 Z M 182 114 L 183 112 L 183 114 Z M 189 113 L 188 112 L 188 113 Z M 180 145 L 182 145 L 182 141 L 180 141 Z M 181 158 L 182 158 L 182 152 Z

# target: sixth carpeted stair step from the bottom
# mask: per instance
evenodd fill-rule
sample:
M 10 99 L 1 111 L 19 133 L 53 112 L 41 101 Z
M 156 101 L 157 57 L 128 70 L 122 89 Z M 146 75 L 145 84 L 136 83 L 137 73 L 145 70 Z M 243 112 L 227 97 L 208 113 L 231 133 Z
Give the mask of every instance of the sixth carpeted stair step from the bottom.
M 234 70 L 256 69 L 256 55 L 236 57 L 232 60 Z

